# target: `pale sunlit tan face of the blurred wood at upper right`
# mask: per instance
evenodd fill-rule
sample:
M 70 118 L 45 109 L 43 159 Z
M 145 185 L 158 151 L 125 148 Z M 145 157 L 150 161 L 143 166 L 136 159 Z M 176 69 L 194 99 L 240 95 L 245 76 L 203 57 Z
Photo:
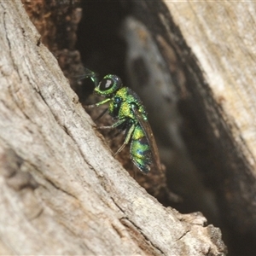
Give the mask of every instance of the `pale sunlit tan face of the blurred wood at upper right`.
M 166 5 L 256 177 L 255 2 Z

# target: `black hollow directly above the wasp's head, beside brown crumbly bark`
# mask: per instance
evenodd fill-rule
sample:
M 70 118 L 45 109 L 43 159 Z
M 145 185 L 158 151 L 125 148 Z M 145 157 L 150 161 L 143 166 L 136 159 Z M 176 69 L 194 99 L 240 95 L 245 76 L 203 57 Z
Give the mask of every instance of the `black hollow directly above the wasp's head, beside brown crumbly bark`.
M 79 23 L 77 49 L 84 67 L 99 73 L 100 78 L 108 73 L 125 78 L 125 42 L 119 36 L 122 20 L 128 15 L 119 1 L 81 1 L 82 20 Z M 88 81 L 81 93 L 89 95 L 93 84 Z M 89 91 L 86 91 L 89 88 Z M 84 95 L 79 95 L 83 98 Z

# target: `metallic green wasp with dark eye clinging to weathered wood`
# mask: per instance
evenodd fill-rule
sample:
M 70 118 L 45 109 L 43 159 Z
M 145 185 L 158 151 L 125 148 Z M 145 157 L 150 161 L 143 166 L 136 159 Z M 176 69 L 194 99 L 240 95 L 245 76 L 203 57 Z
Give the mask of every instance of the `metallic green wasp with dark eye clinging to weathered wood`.
M 90 77 L 96 85 L 94 92 L 105 98 L 101 102 L 87 107 L 93 108 L 109 103 L 108 113 L 116 120 L 113 125 L 98 128 L 113 129 L 117 127 L 119 130 L 125 131 L 125 142 L 114 155 L 131 142 L 131 160 L 140 171 L 144 174 L 148 173 L 152 163 L 158 170 L 161 170 L 154 135 L 148 123 L 146 110 L 137 94 L 130 88 L 124 87 L 121 79 L 116 75 L 108 74 L 98 83 L 96 73 L 90 70 L 86 71 L 84 77 Z

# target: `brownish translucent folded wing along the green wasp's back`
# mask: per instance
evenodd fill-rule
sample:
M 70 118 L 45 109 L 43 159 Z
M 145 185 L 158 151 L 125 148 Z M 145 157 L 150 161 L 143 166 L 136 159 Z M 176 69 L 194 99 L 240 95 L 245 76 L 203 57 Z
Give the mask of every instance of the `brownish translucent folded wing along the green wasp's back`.
M 151 129 L 149 123 L 148 123 L 148 120 L 145 120 L 143 118 L 142 113 L 140 113 L 138 111 L 137 107 L 134 106 L 134 105 L 132 106 L 132 111 L 136 115 L 139 124 L 142 126 L 143 131 L 145 132 L 145 135 L 146 135 L 147 140 L 148 140 L 149 147 L 150 147 L 151 152 L 152 152 L 152 156 L 153 156 L 152 158 L 153 158 L 154 166 L 156 166 L 156 168 L 160 172 L 162 172 L 161 163 L 160 163 L 160 156 L 159 156 L 159 153 L 158 153 L 158 148 L 157 148 L 157 145 L 155 143 L 154 134 L 153 134 L 153 131 L 152 131 L 152 129 Z

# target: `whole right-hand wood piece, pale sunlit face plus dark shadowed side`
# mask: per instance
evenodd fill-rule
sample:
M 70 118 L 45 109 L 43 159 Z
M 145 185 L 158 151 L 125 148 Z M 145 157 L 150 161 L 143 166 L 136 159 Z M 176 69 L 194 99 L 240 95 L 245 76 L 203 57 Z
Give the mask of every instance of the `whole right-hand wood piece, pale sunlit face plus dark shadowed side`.
M 189 79 L 186 90 L 192 109 L 187 118 L 193 116 L 193 125 L 204 147 L 200 151 L 200 144 L 192 143 L 191 155 L 194 154 L 195 163 L 207 176 L 208 183 L 214 181 L 212 187 L 218 195 L 223 225 L 230 230 L 230 242 L 240 247 L 242 254 L 247 250 L 247 254 L 253 253 L 256 3 L 165 3 L 173 23 L 170 26 L 164 15 L 160 19 L 186 66 Z

